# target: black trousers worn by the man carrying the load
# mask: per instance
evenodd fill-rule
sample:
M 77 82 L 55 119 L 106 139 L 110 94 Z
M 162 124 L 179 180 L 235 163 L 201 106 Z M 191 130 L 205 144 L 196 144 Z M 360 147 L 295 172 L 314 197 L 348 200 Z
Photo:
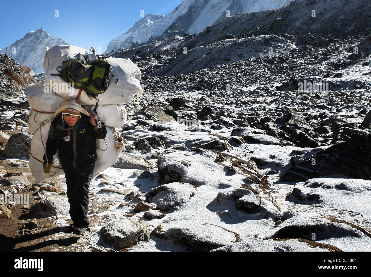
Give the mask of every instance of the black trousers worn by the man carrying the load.
M 89 185 L 93 174 L 95 161 L 86 163 L 77 169 L 72 163 L 63 163 L 66 176 L 67 197 L 70 204 L 70 216 L 75 228 L 88 228 Z

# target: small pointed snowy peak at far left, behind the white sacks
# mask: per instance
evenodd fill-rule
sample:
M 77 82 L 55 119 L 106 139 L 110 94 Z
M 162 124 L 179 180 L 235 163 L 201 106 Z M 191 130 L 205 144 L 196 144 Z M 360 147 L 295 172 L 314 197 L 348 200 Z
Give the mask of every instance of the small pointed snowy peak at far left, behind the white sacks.
M 68 45 L 61 38 L 53 38 L 42 28 L 28 32 L 6 48 L 0 49 L 21 65 L 29 66 L 35 72 L 44 72 L 43 62 L 46 46 Z

